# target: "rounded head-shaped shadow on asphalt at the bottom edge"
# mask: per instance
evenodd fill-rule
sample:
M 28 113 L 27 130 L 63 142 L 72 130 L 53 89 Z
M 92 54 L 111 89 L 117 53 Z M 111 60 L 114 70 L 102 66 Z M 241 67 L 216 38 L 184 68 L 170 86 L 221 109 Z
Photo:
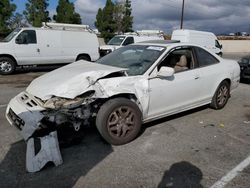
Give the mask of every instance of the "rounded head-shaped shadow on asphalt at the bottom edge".
M 202 188 L 202 172 L 189 162 L 182 161 L 173 164 L 169 170 L 165 171 L 158 188 Z

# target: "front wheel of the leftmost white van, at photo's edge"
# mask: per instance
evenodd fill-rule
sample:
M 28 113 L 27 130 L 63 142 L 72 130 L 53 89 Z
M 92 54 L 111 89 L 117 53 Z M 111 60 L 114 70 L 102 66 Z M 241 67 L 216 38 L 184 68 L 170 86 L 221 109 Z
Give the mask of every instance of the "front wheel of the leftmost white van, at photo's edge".
M 16 69 L 16 63 L 9 57 L 0 57 L 0 74 L 11 74 Z

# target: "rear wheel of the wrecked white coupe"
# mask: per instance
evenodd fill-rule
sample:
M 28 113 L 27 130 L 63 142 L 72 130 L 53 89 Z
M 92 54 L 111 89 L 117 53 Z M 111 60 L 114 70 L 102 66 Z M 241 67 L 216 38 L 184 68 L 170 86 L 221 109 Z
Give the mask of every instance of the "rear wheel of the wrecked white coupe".
M 222 109 L 227 104 L 229 97 L 230 84 L 228 83 L 228 81 L 224 80 L 218 86 L 210 106 L 216 110 Z

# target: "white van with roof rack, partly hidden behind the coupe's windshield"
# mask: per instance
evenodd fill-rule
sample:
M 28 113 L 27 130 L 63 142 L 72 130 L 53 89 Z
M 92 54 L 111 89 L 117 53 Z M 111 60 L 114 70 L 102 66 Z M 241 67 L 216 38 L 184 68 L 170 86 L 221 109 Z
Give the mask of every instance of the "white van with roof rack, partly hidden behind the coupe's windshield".
M 107 45 L 100 46 L 100 56 L 105 56 L 122 46 L 150 40 L 164 40 L 163 32 L 159 30 L 141 30 L 125 33 L 124 35 L 116 35 Z

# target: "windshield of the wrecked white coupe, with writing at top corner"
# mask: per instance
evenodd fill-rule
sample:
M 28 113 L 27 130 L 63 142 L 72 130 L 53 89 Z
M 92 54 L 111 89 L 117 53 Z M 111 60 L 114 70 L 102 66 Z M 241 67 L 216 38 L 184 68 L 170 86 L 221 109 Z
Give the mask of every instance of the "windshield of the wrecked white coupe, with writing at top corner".
M 131 45 L 99 59 L 97 63 L 126 68 L 129 76 L 142 75 L 160 57 L 165 48 L 160 46 Z

